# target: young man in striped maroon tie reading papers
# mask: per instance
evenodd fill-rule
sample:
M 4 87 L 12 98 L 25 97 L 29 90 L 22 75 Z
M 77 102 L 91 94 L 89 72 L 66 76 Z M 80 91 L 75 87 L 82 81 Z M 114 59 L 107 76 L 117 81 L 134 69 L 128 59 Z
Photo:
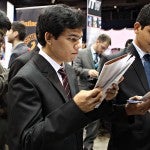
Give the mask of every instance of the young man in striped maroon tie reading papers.
M 42 48 L 9 82 L 10 150 L 82 150 L 82 128 L 112 113 L 109 101 L 95 108 L 100 88 L 78 92 L 75 72 L 67 64 L 78 53 L 84 24 L 81 10 L 66 5 L 49 6 L 39 16 L 36 33 Z M 106 99 L 117 91 L 113 85 Z

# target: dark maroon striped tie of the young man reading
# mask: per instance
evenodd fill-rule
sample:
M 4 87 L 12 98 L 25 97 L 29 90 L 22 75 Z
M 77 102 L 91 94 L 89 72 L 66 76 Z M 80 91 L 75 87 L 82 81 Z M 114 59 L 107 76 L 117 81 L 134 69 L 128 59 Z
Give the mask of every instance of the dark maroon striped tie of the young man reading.
M 70 86 L 69 86 L 69 82 L 68 82 L 68 77 L 67 77 L 66 72 L 64 71 L 64 68 L 60 68 L 60 69 L 58 70 L 58 73 L 59 73 L 59 74 L 61 75 L 61 77 L 62 77 L 63 87 L 64 87 L 64 89 L 65 89 L 65 91 L 66 91 L 67 97 L 68 97 L 69 99 L 71 99 L 71 98 L 72 98 L 72 96 L 71 96 L 71 90 L 70 90 Z

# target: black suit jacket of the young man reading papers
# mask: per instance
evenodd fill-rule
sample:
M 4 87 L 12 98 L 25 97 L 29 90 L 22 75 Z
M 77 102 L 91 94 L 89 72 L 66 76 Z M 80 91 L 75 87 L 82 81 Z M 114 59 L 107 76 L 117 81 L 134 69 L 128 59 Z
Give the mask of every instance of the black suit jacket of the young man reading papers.
M 65 69 L 74 96 L 76 75 L 70 65 Z M 81 128 L 106 112 L 111 114 L 108 103 L 83 113 L 68 100 L 53 67 L 36 54 L 9 83 L 9 149 L 82 150 Z

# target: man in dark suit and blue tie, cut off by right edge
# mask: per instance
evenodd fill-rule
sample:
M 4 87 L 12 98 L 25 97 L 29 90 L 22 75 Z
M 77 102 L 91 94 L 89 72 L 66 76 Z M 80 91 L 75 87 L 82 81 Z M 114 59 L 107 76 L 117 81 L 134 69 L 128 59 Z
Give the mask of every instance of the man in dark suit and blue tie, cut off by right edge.
M 134 95 L 143 96 L 150 91 L 150 59 L 147 61 L 149 67 L 145 67 L 144 55 L 150 57 L 150 4 L 145 5 L 134 24 L 136 34 L 132 44 L 120 53 L 102 58 L 102 63 L 123 55 L 133 54 L 136 59 L 124 74 L 124 80 L 119 86 L 118 94 L 114 101 L 117 111 L 122 114 L 124 123 L 112 120 L 111 136 L 108 150 L 150 150 L 150 113 L 149 104 L 144 107 L 139 104 L 128 104 L 127 100 Z M 140 115 L 144 114 L 144 115 Z

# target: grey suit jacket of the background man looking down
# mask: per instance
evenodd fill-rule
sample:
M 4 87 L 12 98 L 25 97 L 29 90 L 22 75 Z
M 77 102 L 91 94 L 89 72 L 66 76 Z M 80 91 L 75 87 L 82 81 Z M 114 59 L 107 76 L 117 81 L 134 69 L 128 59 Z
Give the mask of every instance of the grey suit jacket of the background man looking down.
M 78 85 L 80 90 L 91 89 L 94 87 L 97 78 L 90 78 L 88 71 L 95 69 L 93 57 L 90 48 L 81 49 L 78 56 L 73 61 L 73 68 L 78 76 Z

